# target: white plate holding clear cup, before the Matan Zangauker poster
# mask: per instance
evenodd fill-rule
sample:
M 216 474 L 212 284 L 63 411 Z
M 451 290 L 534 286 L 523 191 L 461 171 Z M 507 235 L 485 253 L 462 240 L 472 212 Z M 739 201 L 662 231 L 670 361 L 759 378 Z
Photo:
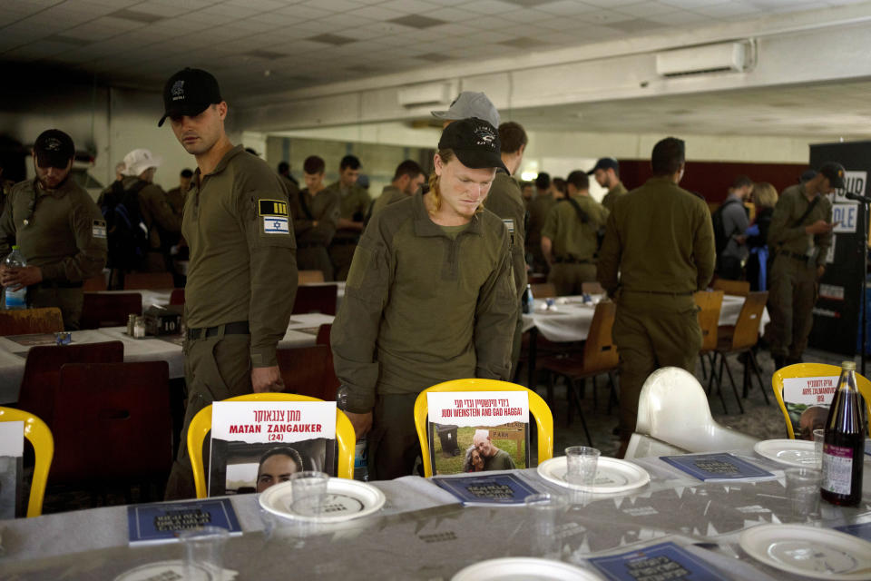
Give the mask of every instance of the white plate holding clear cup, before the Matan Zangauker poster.
M 325 506 L 317 517 L 303 516 L 293 511 L 292 482 L 269 487 L 258 498 L 260 506 L 273 515 L 318 523 L 336 523 L 366 517 L 380 510 L 385 500 L 384 493 L 376 487 L 347 478 L 329 479 Z

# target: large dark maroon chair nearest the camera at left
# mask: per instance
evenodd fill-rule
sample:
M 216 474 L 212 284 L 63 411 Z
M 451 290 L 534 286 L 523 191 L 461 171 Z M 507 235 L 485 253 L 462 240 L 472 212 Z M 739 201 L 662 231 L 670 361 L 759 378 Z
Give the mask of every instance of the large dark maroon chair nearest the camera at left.
M 127 502 L 131 484 L 154 483 L 162 495 L 172 465 L 169 374 L 166 361 L 64 365 L 49 482 L 122 486 Z

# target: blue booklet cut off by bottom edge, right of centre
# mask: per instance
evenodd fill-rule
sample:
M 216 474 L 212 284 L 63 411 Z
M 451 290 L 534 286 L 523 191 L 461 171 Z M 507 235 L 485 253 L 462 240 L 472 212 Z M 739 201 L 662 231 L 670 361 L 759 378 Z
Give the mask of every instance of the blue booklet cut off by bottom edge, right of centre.
M 721 581 L 722 576 L 699 557 L 674 543 L 660 543 L 629 553 L 597 556 L 590 563 L 611 581 Z

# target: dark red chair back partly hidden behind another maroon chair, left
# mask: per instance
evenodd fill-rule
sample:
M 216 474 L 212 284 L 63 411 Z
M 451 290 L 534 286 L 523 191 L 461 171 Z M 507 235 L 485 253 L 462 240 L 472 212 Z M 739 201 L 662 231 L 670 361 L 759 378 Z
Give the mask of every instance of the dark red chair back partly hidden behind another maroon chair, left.
M 39 416 L 51 427 L 54 392 L 60 386 L 64 364 L 121 363 L 123 360 L 124 344 L 121 341 L 32 347 L 24 361 L 18 407 Z

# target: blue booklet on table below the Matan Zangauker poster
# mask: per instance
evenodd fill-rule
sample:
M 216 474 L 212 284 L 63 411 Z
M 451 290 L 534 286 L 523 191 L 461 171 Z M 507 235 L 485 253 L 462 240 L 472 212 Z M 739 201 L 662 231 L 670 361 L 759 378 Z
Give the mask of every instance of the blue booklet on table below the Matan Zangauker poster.
M 127 507 L 130 544 L 168 543 L 183 530 L 200 527 L 226 528 L 241 535 L 239 518 L 230 498 L 203 498 L 186 502 L 156 502 Z

